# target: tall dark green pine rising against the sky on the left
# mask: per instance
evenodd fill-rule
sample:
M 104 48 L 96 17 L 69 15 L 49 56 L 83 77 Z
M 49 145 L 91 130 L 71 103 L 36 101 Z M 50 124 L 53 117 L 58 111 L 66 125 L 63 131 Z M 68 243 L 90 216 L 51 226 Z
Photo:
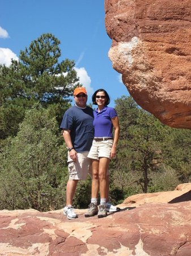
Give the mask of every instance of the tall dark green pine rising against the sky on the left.
M 73 60 L 58 62 L 59 44 L 54 35 L 43 34 L 20 51 L 19 61 L 0 65 L 1 139 L 16 135 L 26 110 L 36 103 L 51 108 L 60 123 L 78 77 Z

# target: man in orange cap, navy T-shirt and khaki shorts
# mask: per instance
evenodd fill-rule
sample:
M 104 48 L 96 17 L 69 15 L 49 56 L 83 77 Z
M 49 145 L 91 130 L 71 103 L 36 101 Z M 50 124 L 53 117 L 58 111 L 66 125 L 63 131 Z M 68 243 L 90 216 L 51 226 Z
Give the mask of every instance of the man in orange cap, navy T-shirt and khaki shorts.
M 72 206 L 73 197 L 78 181 L 87 178 L 91 165 L 91 159 L 87 158 L 87 155 L 94 139 L 94 114 L 93 110 L 86 105 L 87 92 L 84 87 L 78 87 L 74 90 L 74 101 L 75 105 L 66 110 L 60 126 L 68 148 L 69 180 L 66 186 L 66 207 L 63 208 L 63 213 L 69 220 L 78 217 Z M 109 180 L 109 176 L 107 176 L 107 180 Z M 109 181 L 107 185 L 109 194 Z M 98 193 L 98 189 L 99 184 L 97 184 L 96 193 Z M 106 209 L 108 212 L 118 210 L 109 202 Z

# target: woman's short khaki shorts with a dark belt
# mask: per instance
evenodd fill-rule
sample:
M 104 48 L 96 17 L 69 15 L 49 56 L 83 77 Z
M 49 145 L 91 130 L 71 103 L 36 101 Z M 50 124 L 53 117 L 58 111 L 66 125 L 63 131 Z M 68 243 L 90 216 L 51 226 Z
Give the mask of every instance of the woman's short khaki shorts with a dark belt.
M 107 141 L 93 141 L 88 158 L 99 160 L 99 158 L 111 159 L 113 139 Z

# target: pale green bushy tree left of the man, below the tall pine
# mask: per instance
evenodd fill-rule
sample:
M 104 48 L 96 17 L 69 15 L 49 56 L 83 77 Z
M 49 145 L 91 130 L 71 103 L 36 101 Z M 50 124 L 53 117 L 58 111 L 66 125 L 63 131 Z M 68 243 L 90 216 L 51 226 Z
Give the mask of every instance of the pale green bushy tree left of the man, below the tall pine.
M 57 122 L 40 106 L 26 113 L 18 135 L 3 158 L 1 209 L 56 209 L 63 205 L 66 148 L 60 146 Z

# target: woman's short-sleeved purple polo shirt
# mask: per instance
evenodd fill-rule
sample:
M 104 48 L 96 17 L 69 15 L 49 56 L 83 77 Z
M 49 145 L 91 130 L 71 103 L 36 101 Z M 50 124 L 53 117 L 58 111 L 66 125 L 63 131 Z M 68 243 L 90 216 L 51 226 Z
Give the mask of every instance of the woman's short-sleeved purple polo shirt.
M 116 110 L 105 106 L 99 113 L 94 111 L 94 129 L 95 137 L 113 137 L 113 124 L 111 119 L 117 117 Z

